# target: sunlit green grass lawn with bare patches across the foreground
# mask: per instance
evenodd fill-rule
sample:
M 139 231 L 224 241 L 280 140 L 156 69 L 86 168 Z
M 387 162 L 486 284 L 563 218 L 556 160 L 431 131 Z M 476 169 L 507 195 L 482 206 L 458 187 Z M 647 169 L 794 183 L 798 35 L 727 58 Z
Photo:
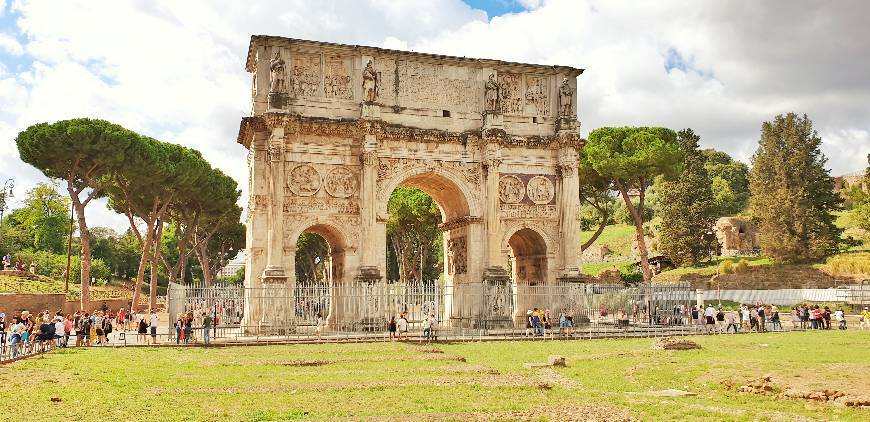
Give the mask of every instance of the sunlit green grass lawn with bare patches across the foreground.
M 32 420 L 870 420 L 868 408 L 736 388 L 770 374 L 777 389 L 867 394 L 870 332 L 694 340 L 703 349 L 654 350 L 654 339 L 70 349 L 0 367 L 0 414 L 27 403 Z M 567 367 L 523 367 L 552 354 Z M 697 396 L 626 394 L 668 388 Z

